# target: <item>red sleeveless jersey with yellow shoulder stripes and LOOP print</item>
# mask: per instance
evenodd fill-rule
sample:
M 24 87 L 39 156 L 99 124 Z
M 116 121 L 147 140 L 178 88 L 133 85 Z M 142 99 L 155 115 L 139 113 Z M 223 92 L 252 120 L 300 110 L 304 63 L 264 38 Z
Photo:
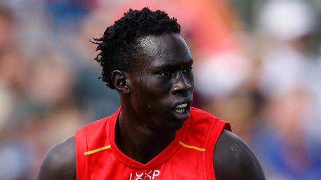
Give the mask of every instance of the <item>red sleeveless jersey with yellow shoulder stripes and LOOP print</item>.
M 115 145 L 119 114 L 120 109 L 76 131 L 77 180 L 215 180 L 213 150 L 222 130 L 231 131 L 228 122 L 191 107 L 175 139 L 142 164 Z

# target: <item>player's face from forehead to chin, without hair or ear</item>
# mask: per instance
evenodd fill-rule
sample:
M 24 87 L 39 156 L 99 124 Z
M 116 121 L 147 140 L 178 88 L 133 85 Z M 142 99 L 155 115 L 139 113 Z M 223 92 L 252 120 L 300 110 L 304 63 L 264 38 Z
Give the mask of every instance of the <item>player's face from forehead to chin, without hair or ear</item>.
M 181 128 L 190 116 L 193 59 L 180 34 L 138 39 L 144 60 L 130 74 L 132 106 L 142 123 L 161 130 Z

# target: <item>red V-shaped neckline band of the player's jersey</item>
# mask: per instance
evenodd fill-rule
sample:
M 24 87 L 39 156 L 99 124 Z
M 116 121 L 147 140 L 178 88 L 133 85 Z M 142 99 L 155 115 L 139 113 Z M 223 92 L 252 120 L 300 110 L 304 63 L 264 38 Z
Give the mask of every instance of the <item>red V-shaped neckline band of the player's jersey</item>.
M 108 130 L 109 130 L 111 149 L 113 150 L 118 160 L 120 160 L 120 162 L 122 162 L 126 166 L 129 166 L 135 169 L 145 169 L 145 168 L 152 168 L 152 167 L 158 166 L 164 163 L 165 161 L 167 161 L 170 157 L 172 157 L 180 147 L 179 142 L 183 139 L 185 135 L 185 131 L 187 129 L 189 120 L 186 120 L 183 127 L 181 127 L 179 130 L 176 131 L 174 140 L 164 150 L 162 150 L 160 154 L 158 154 L 148 163 L 143 164 L 126 156 L 124 153 L 122 153 L 118 149 L 118 147 L 115 144 L 115 127 L 116 127 L 116 122 L 118 120 L 118 117 L 120 115 L 120 111 L 121 109 L 119 108 L 117 112 L 112 116 L 108 124 L 108 128 L 109 128 Z

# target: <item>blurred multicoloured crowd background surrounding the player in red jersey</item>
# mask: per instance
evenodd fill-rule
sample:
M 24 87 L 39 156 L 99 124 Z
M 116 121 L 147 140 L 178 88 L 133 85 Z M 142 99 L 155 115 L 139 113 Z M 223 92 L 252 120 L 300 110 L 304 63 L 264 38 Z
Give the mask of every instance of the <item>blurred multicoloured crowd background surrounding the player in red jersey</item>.
M 161 9 L 195 60 L 194 106 L 230 121 L 268 180 L 321 179 L 320 0 L 1 0 L 0 180 L 111 115 L 92 37 L 129 8 Z

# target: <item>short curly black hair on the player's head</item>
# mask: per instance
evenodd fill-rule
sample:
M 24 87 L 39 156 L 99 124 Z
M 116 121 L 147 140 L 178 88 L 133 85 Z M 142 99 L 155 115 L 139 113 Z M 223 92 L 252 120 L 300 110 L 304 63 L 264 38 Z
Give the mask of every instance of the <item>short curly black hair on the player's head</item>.
M 180 33 L 177 20 L 169 18 L 164 11 L 151 11 L 148 7 L 142 10 L 129 9 L 115 24 L 108 27 L 100 38 L 93 38 L 100 51 L 95 60 L 103 67 L 102 77 L 107 86 L 115 89 L 111 76 L 114 70 L 128 71 L 139 62 L 137 38 L 164 33 Z

